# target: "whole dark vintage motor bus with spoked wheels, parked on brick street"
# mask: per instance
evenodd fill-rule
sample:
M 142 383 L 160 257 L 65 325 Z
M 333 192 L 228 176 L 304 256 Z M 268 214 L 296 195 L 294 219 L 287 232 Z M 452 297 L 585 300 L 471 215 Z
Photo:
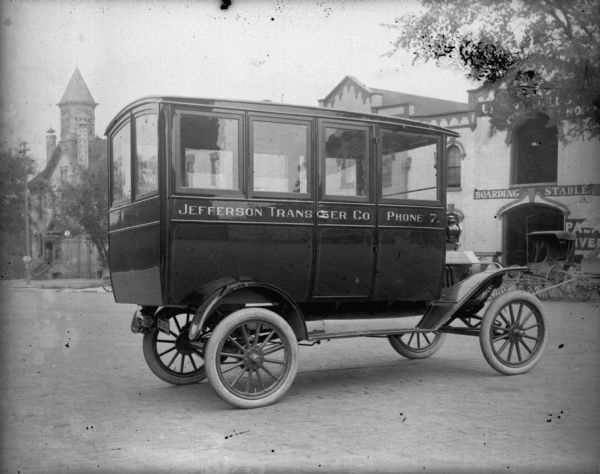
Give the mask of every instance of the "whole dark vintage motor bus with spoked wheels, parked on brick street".
M 448 281 L 444 150 L 455 132 L 151 97 L 106 134 L 114 298 L 139 306 L 131 327 L 162 380 L 207 377 L 226 402 L 263 406 L 293 382 L 299 343 L 353 336 L 423 358 L 445 333 L 477 335 L 505 374 L 539 360 L 540 302 L 490 301 L 505 270 Z

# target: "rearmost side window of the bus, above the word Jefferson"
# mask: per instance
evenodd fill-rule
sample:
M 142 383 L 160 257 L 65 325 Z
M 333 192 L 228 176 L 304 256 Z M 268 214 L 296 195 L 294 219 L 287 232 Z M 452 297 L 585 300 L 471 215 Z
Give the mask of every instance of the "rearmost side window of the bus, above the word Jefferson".
M 178 187 L 238 191 L 239 120 L 192 114 L 178 118 Z

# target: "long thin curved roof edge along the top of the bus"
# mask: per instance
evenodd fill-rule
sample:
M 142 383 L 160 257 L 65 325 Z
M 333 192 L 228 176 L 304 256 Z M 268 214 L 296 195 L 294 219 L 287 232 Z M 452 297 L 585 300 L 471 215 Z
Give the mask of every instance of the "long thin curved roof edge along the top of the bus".
M 231 110 L 247 110 L 252 112 L 262 113 L 279 113 L 279 114 L 291 114 L 291 115 L 306 115 L 314 116 L 318 115 L 323 118 L 347 118 L 353 120 L 362 120 L 369 122 L 387 123 L 394 125 L 402 125 L 407 128 L 413 129 L 414 131 L 429 131 L 444 133 L 449 136 L 457 137 L 459 134 L 455 131 L 447 128 L 438 127 L 428 123 L 418 122 L 403 117 L 393 117 L 391 115 L 378 115 L 366 112 L 357 112 L 352 110 L 343 109 L 331 109 L 326 107 L 306 106 L 306 105 L 290 105 L 290 104 L 279 104 L 275 102 L 266 101 L 246 101 L 246 100 L 232 100 L 232 99 L 209 99 L 209 98 L 194 98 L 194 97 L 178 97 L 178 96 L 149 96 L 143 97 L 134 102 L 131 102 L 125 106 L 119 113 L 111 120 L 108 127 L 106 128 L 105 135 L 108 135 L 111 128 L 121 120 L 127 111 L 148 104 L 175 104 L 175 105 L 197 105 L 206 107 L 218 107 L 220 109 L 231 109 Z

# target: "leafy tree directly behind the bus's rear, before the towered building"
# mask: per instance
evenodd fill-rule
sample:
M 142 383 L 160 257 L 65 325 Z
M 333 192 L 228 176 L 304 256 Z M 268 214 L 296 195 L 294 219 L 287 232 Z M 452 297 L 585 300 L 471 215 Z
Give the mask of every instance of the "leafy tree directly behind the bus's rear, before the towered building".
M 77 177 L 59 188 L 57 220 L 75 231 L 87 234 L 98 249 L 103 267 L 108 263 L 108 197 L 106 155 L 93 160 L 89 167 L 79 167 Z

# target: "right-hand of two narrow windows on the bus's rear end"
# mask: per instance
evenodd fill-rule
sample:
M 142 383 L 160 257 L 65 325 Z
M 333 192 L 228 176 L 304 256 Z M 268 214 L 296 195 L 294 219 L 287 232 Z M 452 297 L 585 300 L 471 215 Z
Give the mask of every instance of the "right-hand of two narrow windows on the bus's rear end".
M 156 114 L 135 119 L 135 198 L 158 190 L 158 132 Z

